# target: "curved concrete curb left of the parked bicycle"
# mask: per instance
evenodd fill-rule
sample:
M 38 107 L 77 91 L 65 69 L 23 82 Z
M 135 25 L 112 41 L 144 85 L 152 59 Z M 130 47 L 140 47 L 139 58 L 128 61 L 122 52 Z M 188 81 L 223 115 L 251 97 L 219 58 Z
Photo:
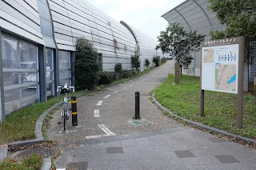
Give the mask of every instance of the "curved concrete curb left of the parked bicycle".
M 46 115 L 48 113 L 50 113 L 50 111 L 52 111 L 53 109 L 55 109 L 58 105 L 60 105 L 62 103 L 59 102 L 53 106 L 50 107 L 50 109 L 47 109 L 44 113 L 42 113 L 42 115 L 39 117 L 36 125 L 35 125 L 35 128 L 34 128 L 34 133 L 35 133 L 35 136 L 36 138 L 33 139 L 33 140 L 20 140 L 20 141 L 15 141 L 15 142 L 12 142 L 10 144 L 8 144 L 8 147 L 12 147 L 12 146 L 24 146 L 24 145 L 27 145 L 27 144 L 38 144 L 38 143 L 42 143 L 44 141 L 43 137 L 42 137 L 42 123 L 43 123 L 43 120 L 45 119 Z

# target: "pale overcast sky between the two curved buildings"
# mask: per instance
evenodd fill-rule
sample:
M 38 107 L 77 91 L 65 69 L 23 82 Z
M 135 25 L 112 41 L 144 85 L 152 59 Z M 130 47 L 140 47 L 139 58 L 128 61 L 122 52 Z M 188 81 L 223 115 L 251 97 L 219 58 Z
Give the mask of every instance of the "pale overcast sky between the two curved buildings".
M 162 18 L 169 10 L 185 0 L 87 0 L 98 9 L 120 22 L 121 20 L 138 30 L 156 38 L 165 30 L 168 22 Z

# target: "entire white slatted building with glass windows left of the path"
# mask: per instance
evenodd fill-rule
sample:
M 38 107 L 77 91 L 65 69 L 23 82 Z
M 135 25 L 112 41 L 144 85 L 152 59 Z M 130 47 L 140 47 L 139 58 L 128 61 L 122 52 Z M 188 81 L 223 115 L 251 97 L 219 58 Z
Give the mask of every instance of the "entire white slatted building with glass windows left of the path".
M 86 0 L 0 1 L 0 120 L 15 109 L 55 96 L 56 86 L 74 85 L 75 43 L 86 38 L 98 50 L 102 70 L 116 63 L 131 69 L 138 49 L 141 70 L 153 64 L 157 42 L 128 29 Z

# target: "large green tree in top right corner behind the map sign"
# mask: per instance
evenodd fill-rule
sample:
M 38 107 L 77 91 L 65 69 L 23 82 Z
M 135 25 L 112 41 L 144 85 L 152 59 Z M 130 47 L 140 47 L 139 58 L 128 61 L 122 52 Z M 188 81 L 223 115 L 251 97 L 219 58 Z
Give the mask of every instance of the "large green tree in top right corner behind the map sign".
M 211 39 L 244 36 L 246 39 L 245 58 L 248 64 L 253 64 L 255 50 L 250 42 L 256 39 L 256 1 L 255 0 L 209 0 L 209 10 L 217 14 L 218 21 L 226 24 L 224 31 L 212 31 Z

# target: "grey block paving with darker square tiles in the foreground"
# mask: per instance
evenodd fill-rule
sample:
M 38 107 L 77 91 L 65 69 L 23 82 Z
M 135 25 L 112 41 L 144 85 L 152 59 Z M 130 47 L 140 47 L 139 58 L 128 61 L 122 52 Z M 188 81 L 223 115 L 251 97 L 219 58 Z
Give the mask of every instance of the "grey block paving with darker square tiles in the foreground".
M 255 170 L 256 150 L 188 127 L 60 145 L 59 168 Z

